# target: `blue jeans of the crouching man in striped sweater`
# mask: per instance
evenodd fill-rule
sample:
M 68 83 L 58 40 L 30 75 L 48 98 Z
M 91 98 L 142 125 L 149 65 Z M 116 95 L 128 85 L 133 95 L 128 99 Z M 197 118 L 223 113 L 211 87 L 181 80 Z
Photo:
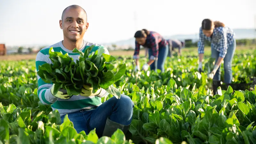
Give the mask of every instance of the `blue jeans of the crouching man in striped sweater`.
M 112 97 L 96 109 L 68 113 L 68 119 L 73 122 L 78 133 L 84 131 L 88 134 L 96 128 L 98 137 L 101 137 L 108 117 L 119 124 L 131 124 L 133 107 L 134 103 L 131 98 L 121 94 L 120 99 Z M 63 123 L 64 117 L 65 115 L 61 116 L 61 123 Z

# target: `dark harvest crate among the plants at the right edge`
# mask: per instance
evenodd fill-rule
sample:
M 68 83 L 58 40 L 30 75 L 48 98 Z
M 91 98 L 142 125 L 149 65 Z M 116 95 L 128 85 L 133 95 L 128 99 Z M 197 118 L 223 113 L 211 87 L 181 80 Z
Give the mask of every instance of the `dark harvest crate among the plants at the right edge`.
M 212 80 L 212 88 L 213 88 L 213 94 L 217 94 L 217 88 L 220 86 L 222 90 L 227 90 L 228 86 L 230 85 L 233 90 L 238 91 L 238 90 L 248 90 L 252 91 L 256 85 L 256 77 L 251 78 L 252 83 L 240 83 L 240 84 L 221 84 L 221 81 L 217 80 Z

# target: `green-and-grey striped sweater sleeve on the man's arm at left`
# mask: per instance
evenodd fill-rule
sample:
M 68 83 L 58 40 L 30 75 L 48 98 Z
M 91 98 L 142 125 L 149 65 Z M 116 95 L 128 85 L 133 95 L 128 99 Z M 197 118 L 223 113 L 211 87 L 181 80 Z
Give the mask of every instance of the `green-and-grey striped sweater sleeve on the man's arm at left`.
M 45 63 L 51 64 L 51 60 L 49 59 L 48 55 L 41 50 L 36 55 L 36 71 L 38 71 L 38 68 L 40 65 L 43 65 Z M 40 101 L 44 105 L 52 105 L 55 101 L 58 100 L 55 96 L 52 95 L 51 87 L 52 83 L 45 83 L 40 76 L 37 75 L 37 83 L 38 83 L 38 90 L 37 95 L 40 99 Z

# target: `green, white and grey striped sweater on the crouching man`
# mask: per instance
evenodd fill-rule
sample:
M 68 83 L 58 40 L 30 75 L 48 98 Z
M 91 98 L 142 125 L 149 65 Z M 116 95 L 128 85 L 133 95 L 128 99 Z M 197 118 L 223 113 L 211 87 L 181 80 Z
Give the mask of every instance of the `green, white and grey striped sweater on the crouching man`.
M 83 47 L 79 49 L 82 52 L 85 52 L 85 50 L 95 45 L 95 47 L 92 49 L 91 52 L 95 52 L 99 48 L 99 44 L 92 44 L 89 42 L 84 41 Z M 71 50 L 66 49 L 62 41 L 59 43 L 53 44 L 49 47 L 43 48 L 40 52 L 38 52 L 36 56 L 36 70 L 38 71 L 39 65 L 43 65 L 44 63 L 52 64 L 52 61 L 49 58 L 49 49 L 53 47 L 53 50 L 55 52 L 62 52 L 63 54 L 68 53 L 70 57 L 73 58 L 73 60 L 76 62 L 78 60 L 78 57 L 80 56 L 78 53 L 74 53 Z M 108 50 L 104 47 L 105 54 L 109 54 Z M 59 99 L 52 95 L 51 93 L 51 87 L 52 83 L 45 83 L 40 76 L 37 75 L 37 82 L 38 82 L 38 97 L 40 101 L 45 105 L 51 105 L 52 110 L 54 111 L 57 109 L 60 113 L 60 116 L 63 116 L 67 113 L 76 112 L 79 110 L 89 110 L 92 108 L 98 107 L 101 103 L 101 98 L 108 95 L 108 92 L 104 89 L 101 90 L 100 94 L 98 96 L 89 96 L 84 97 L 81 95 L 78 96 L 72 96 L 70 99 Z

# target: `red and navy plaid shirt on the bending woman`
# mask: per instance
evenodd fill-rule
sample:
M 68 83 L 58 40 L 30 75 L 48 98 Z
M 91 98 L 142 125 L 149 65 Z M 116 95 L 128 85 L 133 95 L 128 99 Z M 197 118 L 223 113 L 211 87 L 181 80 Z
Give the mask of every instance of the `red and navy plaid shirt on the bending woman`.
M 153 50 L 153 55 L 150 57 L 150 60 L 156 60 L 158 57 L 159 48 L 165 47 L 168 42 L 164 39 L 160 34 L 149 31 L 149 35 L 147 36 L 146 43 L 142 46 L 150 48 Z M 139 59 L 140 53 L 140 44 L 135 41 L 135 50 L 134 50 L 134 59 Z

